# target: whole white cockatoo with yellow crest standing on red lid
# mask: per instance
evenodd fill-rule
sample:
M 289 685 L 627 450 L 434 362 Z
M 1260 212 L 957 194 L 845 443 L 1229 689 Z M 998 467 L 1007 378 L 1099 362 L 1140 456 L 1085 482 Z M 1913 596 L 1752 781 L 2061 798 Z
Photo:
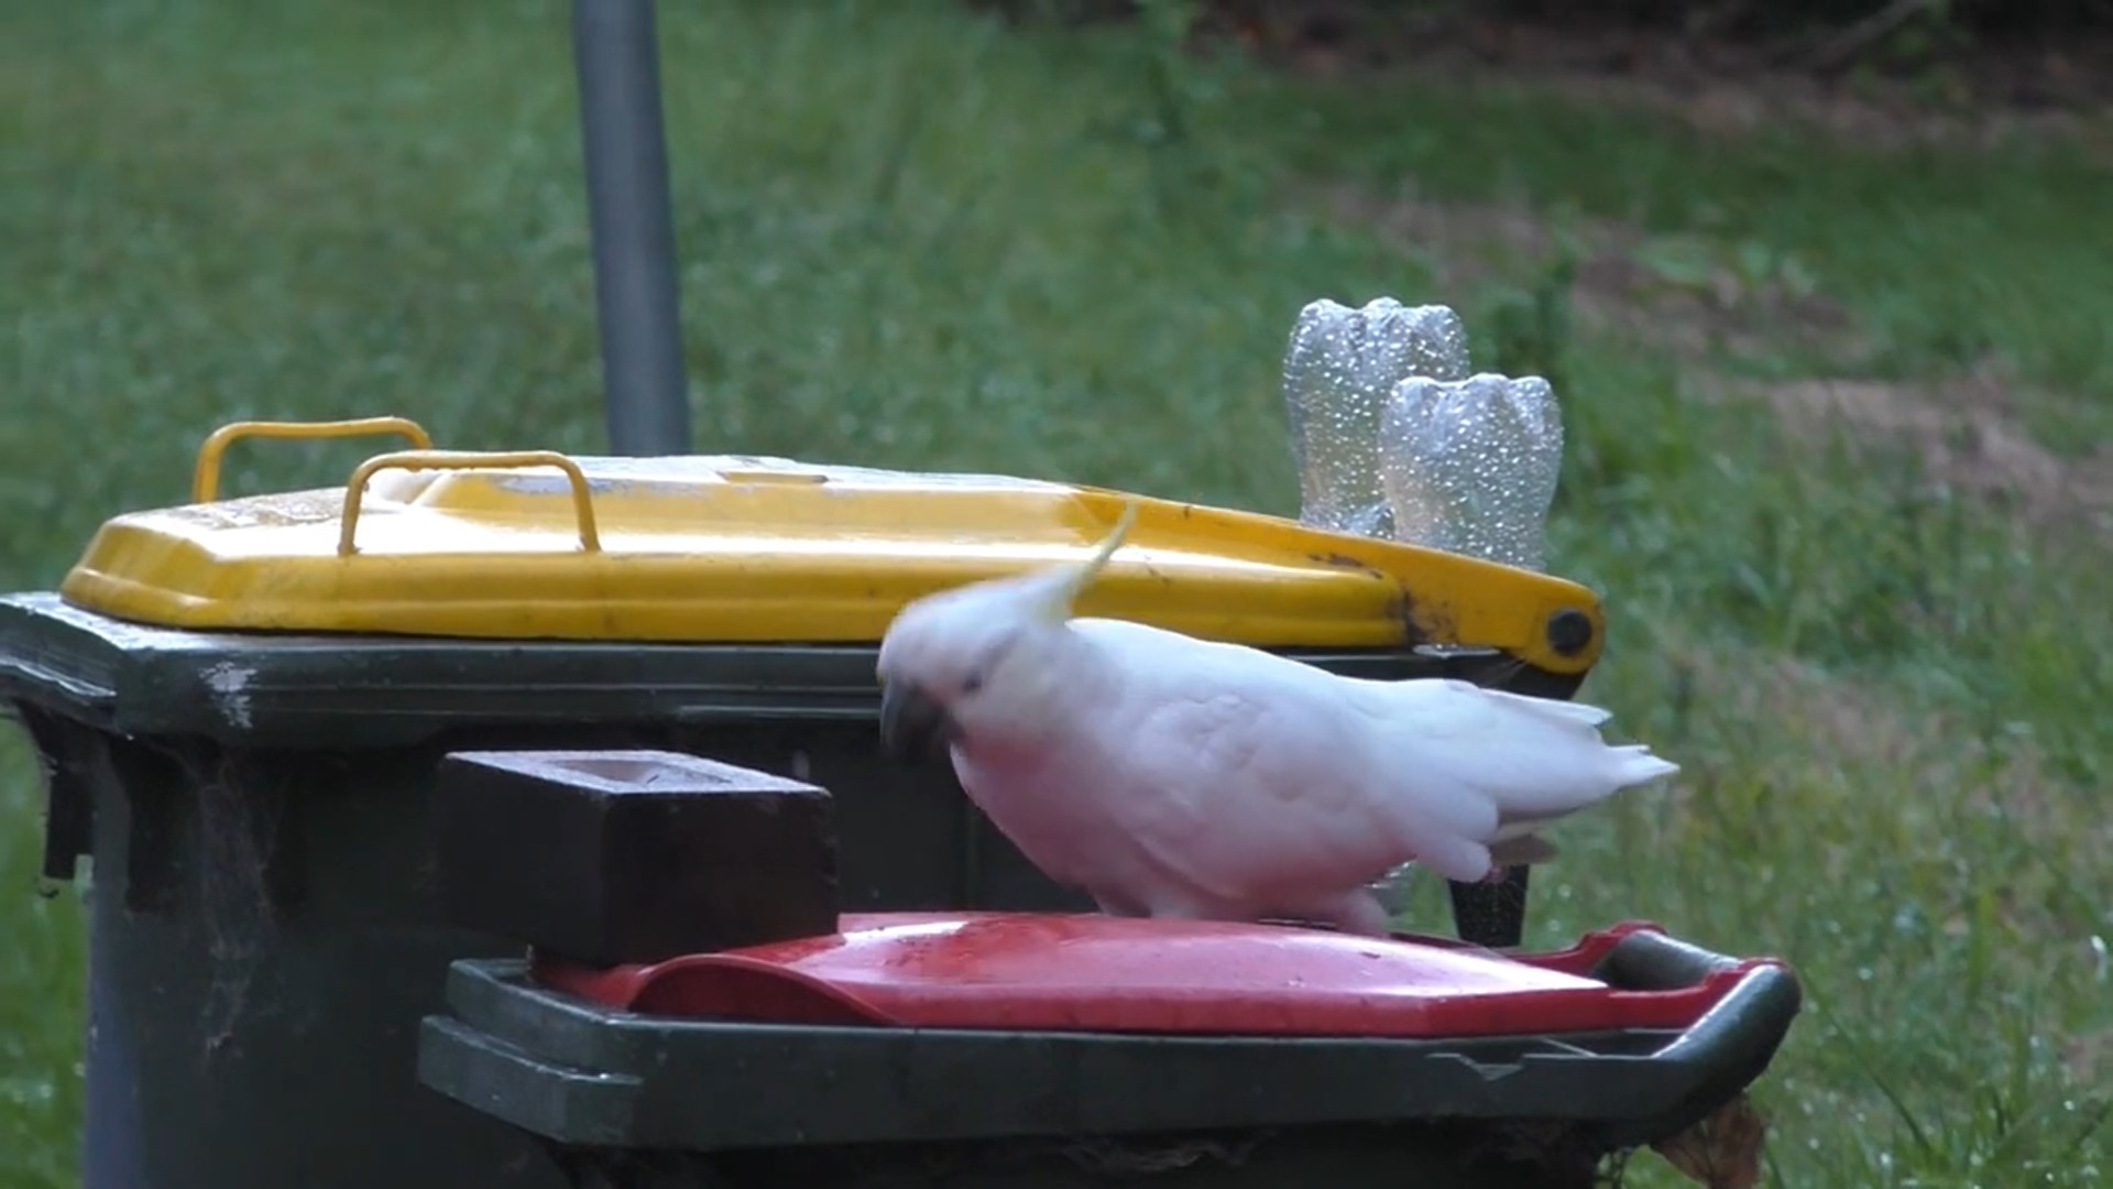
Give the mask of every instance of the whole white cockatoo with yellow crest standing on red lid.
M 885 745 L 945 743 L 993 825 L 1107 914 L 1384 935 L 1369 884 L 1403 863 L 1494 878 L 1549 859 L 1551 821 L 1678 772 L 1604 743 L 1595 707 L 1073 618 L 1135 516 L 1086 563 L 913 601 L 877 666 Z

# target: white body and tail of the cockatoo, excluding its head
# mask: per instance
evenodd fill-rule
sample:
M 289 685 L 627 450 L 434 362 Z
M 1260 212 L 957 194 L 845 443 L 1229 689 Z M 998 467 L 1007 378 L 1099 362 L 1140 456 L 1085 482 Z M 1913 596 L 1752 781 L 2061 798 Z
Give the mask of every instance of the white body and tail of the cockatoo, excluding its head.
M 1608 747 L 1597 707 L 1466 681 L 1363 681 L 1122 620 L 1052 626 L 1050 747 L 957 749 L 964 789 L 1052 878 L 1118 912 L 1319 914 L 1678 770 Z

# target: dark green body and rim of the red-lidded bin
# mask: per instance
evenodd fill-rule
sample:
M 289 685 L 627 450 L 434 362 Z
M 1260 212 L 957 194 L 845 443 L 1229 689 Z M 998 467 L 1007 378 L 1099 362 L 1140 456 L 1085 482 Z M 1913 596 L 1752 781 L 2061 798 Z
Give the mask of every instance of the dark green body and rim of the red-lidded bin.
M 1264 1164 L 1276 1181 L 1211 1166 L 1221 1178 L 1171 1183 L 1585 1187 L 1600 1155 L 1678 1134 L 1760 1077 L 1800 1003 L 1788 969 L 1648 927 L 1530 965 L 1604 999 L 1707 990 L 1671 1026 L 1272 1039 L 695 1020 L 543 986 L 526 961 L 465 961 L 450 1011 L 425 1022 L 420 1079 L 543 1136 L 579 1185 L 805 1185 L 816 1168 L 830 1185 L 951 1185 L 915 1161 L 1202 1134 L 1283 1151 Z M 1538 1155 L 1488 1164 L 1521 1142 Z M 1008 1168 L 959 1183 L 1109 1176 Z

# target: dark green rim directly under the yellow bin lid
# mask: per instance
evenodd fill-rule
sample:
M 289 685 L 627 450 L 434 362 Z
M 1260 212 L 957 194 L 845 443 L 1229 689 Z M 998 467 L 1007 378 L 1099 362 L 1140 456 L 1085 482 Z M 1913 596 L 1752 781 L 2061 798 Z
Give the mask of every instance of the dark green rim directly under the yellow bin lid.
M 1278 647 L 1382 681 L 1454 677 L 1568 698 L 1581 677 L 1502 654 Z M 30 702 L 127 736 L 245 747 L 395 747 L 456 728 L 868 724 L 871 643 L 505 641 L 169 628 L 57 592 L 0 594 L 0 705 Z

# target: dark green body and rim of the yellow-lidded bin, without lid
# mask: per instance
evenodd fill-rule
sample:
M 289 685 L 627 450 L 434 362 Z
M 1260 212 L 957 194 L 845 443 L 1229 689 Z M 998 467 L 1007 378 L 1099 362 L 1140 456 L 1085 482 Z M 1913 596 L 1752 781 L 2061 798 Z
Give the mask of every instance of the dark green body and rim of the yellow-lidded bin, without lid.
M 89 1189 L 562 1185 L 528 1138 L 414 1081 L 448 963 L 520 950 L 437 914 L 427 804 L 448 751 L 657 747 L 814 781 L 835 791 L 847 910 L 1090 908 L 951 770 L 879 753 L 854 677 L 871 650 L 258 641 L 53 597 L 0 603 L 0 641 L 51 768 L 49 870 L 93 855 Z M 759 700 L 771 669 L 803 692 Z

